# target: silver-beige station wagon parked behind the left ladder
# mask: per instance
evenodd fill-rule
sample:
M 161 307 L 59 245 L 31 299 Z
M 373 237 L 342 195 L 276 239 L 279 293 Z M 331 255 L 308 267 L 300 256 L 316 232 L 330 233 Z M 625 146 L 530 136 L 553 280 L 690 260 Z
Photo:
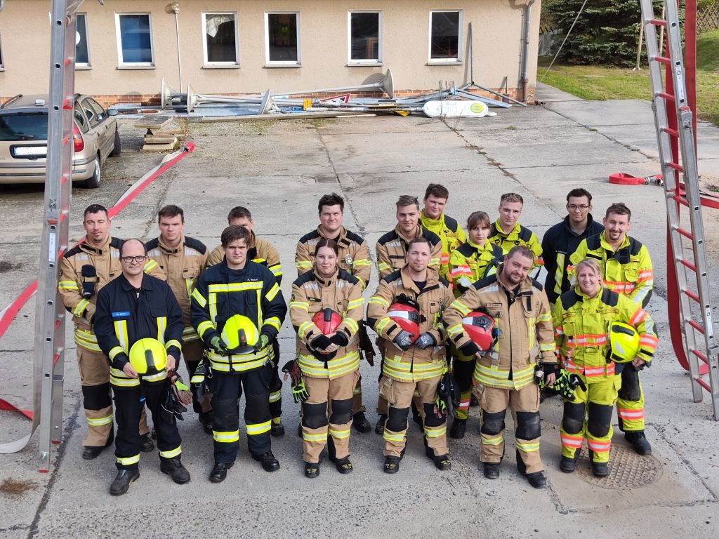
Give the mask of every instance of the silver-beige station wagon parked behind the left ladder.
M 0 183 L 45 183 L 47 101 L 47 95 L 20 95 L 0 106 Z M 120 153 L 116 114 L 75 94 L 73 181 L 100 187 L 101 165 Z

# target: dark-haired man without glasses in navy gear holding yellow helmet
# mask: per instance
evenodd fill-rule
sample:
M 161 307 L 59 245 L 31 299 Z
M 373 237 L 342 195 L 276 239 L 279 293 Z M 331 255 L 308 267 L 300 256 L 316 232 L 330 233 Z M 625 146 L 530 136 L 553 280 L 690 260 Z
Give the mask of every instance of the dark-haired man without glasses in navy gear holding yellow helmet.
M 192 292 L 192 325 L 206 346 L 212 372 L 214 483 L 224 481 L 237 457 L 243 391 L 249 453 L 265 471 L 280 468 L 270 441 L 274 366 L 269 345 L 280 331 L 287 305 L 273 273 L 247 258 L 251 237 L 243 226 L 224 229 L 224 260 L 206 270 Z

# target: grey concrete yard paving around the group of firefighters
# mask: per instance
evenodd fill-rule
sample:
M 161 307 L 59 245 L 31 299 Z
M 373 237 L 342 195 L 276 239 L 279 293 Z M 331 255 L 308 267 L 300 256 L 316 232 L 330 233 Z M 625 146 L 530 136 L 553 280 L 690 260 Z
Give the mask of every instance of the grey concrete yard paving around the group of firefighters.
M 219 243 L 229 208 L 247 206 L 257 235 L 280 249 L 288 300 L 296 277 L 296 241 L 318 224 L 316 203 L 324 193 L 345 197 L 344 224 L 367 239 L 373 258 L 377 239 L 395 226 L 398 195 L 421 200 L 430 182 L 449 188 L 446 213 L 463 226 L 475 210 L 496 218 L 500 194 L 520 193 L 525 199 L 521 223 L 540 237 L 564 217 L 564 197 L 574 187 L 594 195 L 598 219 L 610 203 L 626 202 L 633 211 L 629 234 L 649 247 L 654 261 L 649 312 L 661 344 L 653 366 L 642 374 L 652 456 L 633 454 L 615 428 L 609 478 L 592 477 L 586 457 L 574 474 L 563 474 L 562 406 L 555 398 L 541 408 L 541 454 L 549 479 L 544 490 L 529 487 L 516 471 L 511 420 L 500 479 L 482 476 L 477 408 L 470 409 L 467 436 L 449 440 L 451 471 L 434 468 L 411 423 L 397 475 L 382 471 L 382 438 L 353 430 L 354 473 L 340 475 L 326 461 L 311 481 L 303 476 L 296 436 L 298 405 L 285 384 L 287 433 L 273 438 L 280 471 L 267 474 L 249 458 L 241 423 L 237 463 L 225 482 L 211 484 L 211 437 L 188 413 L 179 426 L 191 483 L 173 484 L 160 473 L 155 453 L 144 453 L 139 480 L 115 498 L 108 492 L 116 473 L 112 451 L 93 461 L 81 459 L 86 425 L 68 325 L 63 443 L 54 449 L 49 474 L 37 472 L 37 433 L 24 451 L 0 456 L 0 538 L 715 538 L 719 425 L 708 398 L 692 402 L 690 379 L 669 342 L 664 191 L 608 183 L 613 172 L 640 177 L 660 172 L 649 103 L 581 101 L 547 87 L 539 88 L 538 98 L 546 104 L 495 109 L 497 116 L 464 121 L 379 116 L 188 124 L 196 152 L 122 211 L 111 231 L 125 238 L 157 236 L 157 210 L 176 203 L 186 213 L 186 234 L 211 249 Z M 700 174 L 705 187 L 713 188 L 719 185 L 719 129 L 701 123 L 698 131 Z M 121 134 L 123 153 L 106 163 L 104 185 L 74 190 L 74 240 L 82 236 L 85 206 L 112 206 L 160 160 L 139 153 L 143 133 L 132 121 L 121 120 Z M 41 219 L 42 187 L 0 188 L 0 308 L 35 278 Z M 719 231 L 716 211 L 705 211 L 705 221 L 713 238 Z M 719 250 L 713 239 L 709 249 L 716 283 Z M 373 272 L 367 297 L 377 286 L 376 267 Z M 0 397 L 22 407 L 32 407 L 34 309 L 31 301 L 0 341 Z M 280 346 L 283 363 L 294 351 L 289 318 Z M 362 364 L 361 370 L 367 417 L 374 425 L 378 366 Z M 29 424 L 18 414 L 0 412 L 0 441 L 24 436 Z

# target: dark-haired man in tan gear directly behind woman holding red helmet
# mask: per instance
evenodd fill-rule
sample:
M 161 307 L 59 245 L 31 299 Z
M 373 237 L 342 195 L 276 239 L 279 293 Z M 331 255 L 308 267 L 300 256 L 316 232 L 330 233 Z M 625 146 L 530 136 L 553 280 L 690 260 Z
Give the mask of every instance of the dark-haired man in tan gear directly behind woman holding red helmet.
M 323 195 L 317 203 L 317 211 L 319 213 L 319 226 L 316 230 L 302 236 L 300 241 L 297 242 L 295 252 L 297 276 L 301 277 L 312 270 L 314 253 L 320 239 L 334 239 L 339 249 L 337 260 L 339 269 L 356 277 L 364 291 L 370 282 L 370 275 L 372 274 L 370 251 L 367 249 L 367 242 L 362 236 L 358 236 L 342 226 L 344 198 L 337 193 Z M 363 334 L 366 329 L 364 326 L 360 326 L 359 331 Z M 365 338 L 364 341 L 369 342 L 369 339 Z M 375 351 L 372 349 L 371 344 L 362 347 L 360 352 L 365 354 L 367 363 L 370 365 L 375 364 Z M 354 387 L 352 397 L 352 426 L 359 433 L 368 433 L 372 430 L 372 425 L 365 417 L 366 410 L 367 408 L 362 403 L 362 377 L 360 376 L 357 379 L 357 385 Z

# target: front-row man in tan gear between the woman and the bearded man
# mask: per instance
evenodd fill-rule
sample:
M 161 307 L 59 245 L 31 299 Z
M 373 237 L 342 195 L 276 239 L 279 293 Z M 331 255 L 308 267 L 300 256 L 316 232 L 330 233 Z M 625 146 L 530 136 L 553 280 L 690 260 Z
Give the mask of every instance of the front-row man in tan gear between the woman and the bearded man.
M 442 313 L 454 296 L 449 283 L 429 267 L 431 248 L 423 237 L 409 241 L 406 266 L 380 280 L 377 292 L 367 304 L 367 323 L 383 341 L 380 389 L 389 401 L 383 434 L 384 470 L 388 474 L 399 470 L 404 455 L 407 418 L 415 392 L 421 401 L 426 455 L 437 469 L 452 466 L 446 441 L 446 412 L 437 389 L 447 369 Z M 416 334 L 393 319 L 392 307 L 397 304 L 413 308 Z

